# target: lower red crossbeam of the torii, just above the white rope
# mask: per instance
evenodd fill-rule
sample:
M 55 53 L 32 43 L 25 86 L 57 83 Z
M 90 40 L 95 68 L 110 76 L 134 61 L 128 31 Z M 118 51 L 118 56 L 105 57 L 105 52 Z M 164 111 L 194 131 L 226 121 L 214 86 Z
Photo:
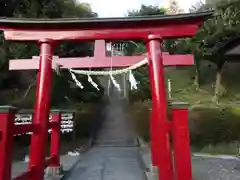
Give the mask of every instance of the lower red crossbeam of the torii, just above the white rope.
M 61 68 L 124 68 L 136 64 L 146 58 L 145 56 L 113 56 L 111 57 L 74 57 L 74 58 L 58 58 L 54 57 L 56 63 Z M 15 59 L 10 60 L 10 70 L 30 70 L 38 69 L 39 57 L 33 59 Z M 194 65 L 193 55 L 168 55 L 163 54 L 163 64 L 165 66 L 190 66 Z

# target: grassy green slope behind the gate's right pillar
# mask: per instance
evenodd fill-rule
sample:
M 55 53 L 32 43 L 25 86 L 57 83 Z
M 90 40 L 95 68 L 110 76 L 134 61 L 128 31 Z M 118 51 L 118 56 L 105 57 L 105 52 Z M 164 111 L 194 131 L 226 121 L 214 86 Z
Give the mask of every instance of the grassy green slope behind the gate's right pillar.
M 220 106 L 236 106 L 240 104 L 240 64 L 225 64 L 222 74 L 222 84 L 227 94 L 220 99 Z M 190 103 L 214 106 L 211 100 L 214 94 L 216 68 L 209 62 L 201 65 L 202 84 L 200 89 L 193 85 L 193 67 L 168 67 L 165 69 L 166 78 L 172 81 L 172 98 Z

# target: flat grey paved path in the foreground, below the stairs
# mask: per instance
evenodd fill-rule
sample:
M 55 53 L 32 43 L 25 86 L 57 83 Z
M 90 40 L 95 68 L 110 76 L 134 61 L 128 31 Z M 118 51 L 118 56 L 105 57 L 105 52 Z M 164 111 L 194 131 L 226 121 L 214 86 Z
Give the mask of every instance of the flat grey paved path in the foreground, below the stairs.
M 69 180 L 145 180 L 138 148 L 95 147 L 66 177 Z

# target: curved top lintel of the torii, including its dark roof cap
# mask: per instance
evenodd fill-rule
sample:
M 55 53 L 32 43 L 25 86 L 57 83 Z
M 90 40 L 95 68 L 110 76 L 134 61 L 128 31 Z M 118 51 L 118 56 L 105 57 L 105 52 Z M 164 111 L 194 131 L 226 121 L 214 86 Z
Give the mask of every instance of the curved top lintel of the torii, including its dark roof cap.
M 85 19 L 1 19 L 6 40 L 42 39 L 97 40 L 146 39 L 159 34 L 163 39 L 194 36 L 211 11 L 180 15 Z

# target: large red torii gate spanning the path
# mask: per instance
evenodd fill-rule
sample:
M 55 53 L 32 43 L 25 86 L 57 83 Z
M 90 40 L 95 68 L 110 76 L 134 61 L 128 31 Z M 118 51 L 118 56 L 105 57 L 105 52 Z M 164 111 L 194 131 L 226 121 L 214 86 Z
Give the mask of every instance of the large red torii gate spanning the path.
M 172 132 L 176 178 L 179 180 L 191 180 L 191 157 L 188 131 L 186 129 L 187 111 L 174 110 L 172 122 L 168 120 L 163 73 L 163 57 L 167 57 L 167 54 L 162 53 L 161 43 L 163 39 L 194 36 L 204 19 L 211 15 L 212 12 L 141 18 L 69 20 L 0 19 L 0 28 L 4 31 L 6 40 L 21 42 L 34 41 L 38 42 L 40 46 L 39 68 L 37 67 L 37 61 L 31 62 L 29 65 L 25 64 L 24 60 L 22 61 L 23 66 L 28 67 L 28 69 L 39 69 L 33 120 L 33 125 L 37 126 L 37 130 L 33 132 L 31 139 L 29 163 L 31 176 L 29 176 L 28 179 L 42 180 L 44 177 L 45 151 L 43 150 L 46 147 L 47 129 L 49 126 L 48 116 L 52 85 L 51 60 L 53 59 L 54 45 L 62 40 L 142 39 L 146 41 L 148 49 L 150 83 L 152 88 L 151 149 L 153 164 L 159 168 L 159 179 L 172 180 L 174 178 L 172 151 L 169 144 L 169 133 Z M 101 51 L 99 51 L 99 53 L 101 53 Z M 123 60 L 126 62 L 126 57 L 114 58 L 114 61 Z M 139 61 L 139 57 L 128 58 L 132 58 L 132 62 L 129 65 Z M 93 63 L 94 58 L 89 58 L 86 64 L 77 62 L 77 59 L 73 58 L 72 64 L 70 62 L 68 63 L 66 59 L 56 59 L 56 61 L 59 61 L 59 63 L 66 68 L 79 67 L 80 65 L 81 67 L 87 67 L 89 65 L 93 67 L 91 63 Z M 106 61 L 108 60 L 106 59 Z M 25 62 L 29 63 L 30 61 L 25 60 Z M 100 65 L 102 65 L 102 67 L 109 67 L 109 63 L 105 62 L 101 62 L 98 65 L 99 66 L 96 67 L 100 67 Z M 126 66 L 127 63 L 115 65 L 122 67 Z M 20 66 L 17 61 L 10 62 L 10 69 L 26 69 L 23 66 Z M 178 119 L 178 121 L 176 121 L 176 119 Z M 12 131 L 7 131 L 8 135 L 11 134 L 11 132 Z M 6 142 L 5 146 L 7 145 L 8 143 Z M 4 155 L 7 156 L 7 151 L 4 152 Z M 59 163 L 56 163 L 56 166 L 59 166 Z M 11 170 L 4 167 L 0 168 L 2 171 L 0 180 L 10 180 Z M 4 177 L 7 177 L 7 179 Z

